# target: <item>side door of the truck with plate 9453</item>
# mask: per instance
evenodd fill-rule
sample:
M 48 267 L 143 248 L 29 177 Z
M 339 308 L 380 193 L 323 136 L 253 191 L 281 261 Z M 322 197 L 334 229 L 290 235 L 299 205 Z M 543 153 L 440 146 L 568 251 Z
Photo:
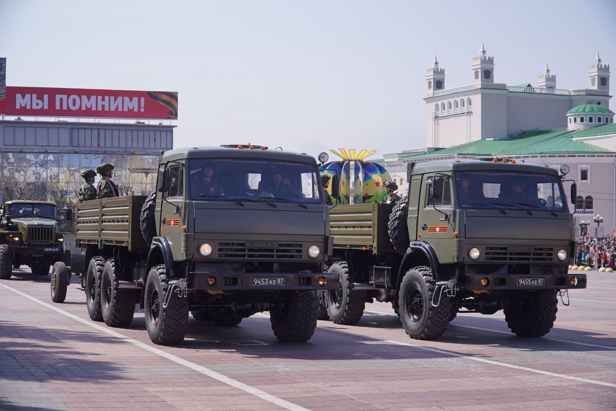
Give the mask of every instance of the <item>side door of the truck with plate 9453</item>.
M 167 239 L 175 260 L 183 258 L 182 226 L 185 225 L 184 164 L 171 164 L 168 172 L 167 191 L 161 202 L 160 235 Z

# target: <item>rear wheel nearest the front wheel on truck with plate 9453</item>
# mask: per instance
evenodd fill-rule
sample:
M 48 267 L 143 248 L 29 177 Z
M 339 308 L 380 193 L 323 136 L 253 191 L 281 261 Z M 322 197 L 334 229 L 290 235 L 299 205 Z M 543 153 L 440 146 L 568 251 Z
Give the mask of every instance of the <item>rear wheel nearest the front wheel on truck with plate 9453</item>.
M 125 327 L 135 314 L 135 290 L 120 288 L 115 261 L 108 259 L 100 276 L 100 312 L 110 327 Z

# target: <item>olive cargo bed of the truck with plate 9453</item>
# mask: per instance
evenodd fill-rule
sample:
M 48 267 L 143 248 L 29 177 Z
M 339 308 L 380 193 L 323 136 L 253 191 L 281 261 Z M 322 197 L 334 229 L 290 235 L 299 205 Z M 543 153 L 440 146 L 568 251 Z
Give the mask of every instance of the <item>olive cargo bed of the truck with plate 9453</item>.
M 75 218 L 76 246 L 120 245 L 129 251 L 146 248 L 139 229 L 144 201 L 145 196 L 123 196 L 80 202 Z

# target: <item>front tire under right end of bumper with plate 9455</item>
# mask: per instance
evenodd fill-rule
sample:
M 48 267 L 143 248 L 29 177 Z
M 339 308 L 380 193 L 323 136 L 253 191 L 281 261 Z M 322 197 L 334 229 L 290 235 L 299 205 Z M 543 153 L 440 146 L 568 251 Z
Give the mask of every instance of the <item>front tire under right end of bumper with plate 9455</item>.
M 520 337 L 541 337 L 549 333 L 558 311 L 557 291 L 531 291 L 521 302 L 505 307 L 505 321 L 512 333 Z

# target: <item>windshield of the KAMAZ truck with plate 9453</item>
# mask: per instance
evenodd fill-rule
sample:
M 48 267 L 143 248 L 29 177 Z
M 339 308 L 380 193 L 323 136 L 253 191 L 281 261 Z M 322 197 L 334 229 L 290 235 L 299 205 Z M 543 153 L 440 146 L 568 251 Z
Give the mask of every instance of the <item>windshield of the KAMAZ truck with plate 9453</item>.
M 270 201 L 320 203 L 316 165 L 269 160 L 197 159 L 188 164 L 190 195 L 272 198 Z

